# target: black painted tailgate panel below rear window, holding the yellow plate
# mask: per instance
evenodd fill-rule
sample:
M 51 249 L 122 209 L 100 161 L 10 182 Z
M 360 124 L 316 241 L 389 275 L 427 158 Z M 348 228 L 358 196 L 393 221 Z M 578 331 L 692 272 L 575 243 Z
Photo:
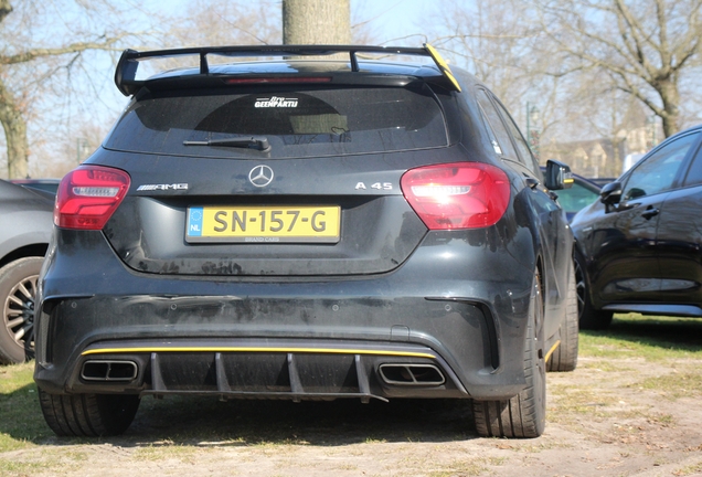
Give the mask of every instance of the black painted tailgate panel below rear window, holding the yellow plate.
M 139 160 L 124 156 L 130 163 Z M 464 160 L 457 148 L 436 150 L 433 157 L 439 162 Z M 114 153 L 110 159 L 115 161 Z M 161 161 L 170 165 L 166 173 L 129 168 L 131 191 L 104 229 L 125 264 L 137 271 L 377 274 L 401 265 L 427 232 L 400 190 L 405 170 L 426 162 L 425 151 L 265 163 L 176 157 Z M 260 166 L 274 173 L 266 188 L 249 181 Z M 208 170 L 208 178 L 198 179 L 201 170 Z

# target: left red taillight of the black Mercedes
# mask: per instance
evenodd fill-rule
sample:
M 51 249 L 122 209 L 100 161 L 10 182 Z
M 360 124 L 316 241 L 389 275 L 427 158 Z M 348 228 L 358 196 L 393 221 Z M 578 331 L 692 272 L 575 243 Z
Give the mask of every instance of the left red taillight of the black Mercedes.
M 60 227 L 100 230 L 129 190 L 129 174 L 119 169 L 81 166 L 59 186 L 54 223 Z

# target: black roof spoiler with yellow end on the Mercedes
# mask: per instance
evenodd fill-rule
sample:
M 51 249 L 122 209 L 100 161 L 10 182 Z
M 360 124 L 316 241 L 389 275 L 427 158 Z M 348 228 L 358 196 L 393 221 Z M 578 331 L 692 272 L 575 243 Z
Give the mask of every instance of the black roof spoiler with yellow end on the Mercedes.
M 425 43 L 423 47 L 405 47 L 405 46 L 350 46 L 350 45 L 260 45 L 260 46 L 206 46 L 206 47 L 189 47 L 174 50 L 156 50 L 147 52 L 138 52 L 135 50 L 125 50 L 117 63 L 115 71 L 115 84 L 117 89 L 125 96 L 130 96 L 139 91 L 145 84 L 145 80 L 136 80 L 139 62 L 152 59 L 164 59 L 173 56 L 200 56 L 200 74 L 209 75 L 210 65 L 208 64 L 209 54 L 217 54 L 232 57 L 267 57 L 267 56 L 327 56 L 339 53 L 348 53 L 351 60 L 351 71 L 359 72 L 359 53 L 375 54 L 401 54 L 429 56 L 442 75 L 447 80 L 450 89 L 460 92 L 458 82 L 451 74 L 448 64 L 442 59 L 439 53 L 429 44 Z

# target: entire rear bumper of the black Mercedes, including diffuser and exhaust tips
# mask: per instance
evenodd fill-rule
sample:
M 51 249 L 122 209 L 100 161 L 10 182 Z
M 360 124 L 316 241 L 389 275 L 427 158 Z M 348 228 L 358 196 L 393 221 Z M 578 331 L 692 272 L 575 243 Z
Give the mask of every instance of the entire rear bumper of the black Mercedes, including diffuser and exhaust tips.
M 72 232 L 59 239 L 35 322 L 34 379 L 51 393 L 506 399 L 524 385 L 533 268 L 509 253 L 444 240 L 380 276 L 214 280 L 128 269 L 99 233 L 81 240 L 86 263 Z

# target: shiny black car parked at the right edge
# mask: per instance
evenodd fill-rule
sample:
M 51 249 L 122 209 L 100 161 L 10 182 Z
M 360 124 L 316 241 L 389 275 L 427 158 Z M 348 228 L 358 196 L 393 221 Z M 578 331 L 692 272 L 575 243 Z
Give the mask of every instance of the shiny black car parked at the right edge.
M 702 317 L 701 140 L 702 126 L 668 138 L 573 219 L 581 327 Z

